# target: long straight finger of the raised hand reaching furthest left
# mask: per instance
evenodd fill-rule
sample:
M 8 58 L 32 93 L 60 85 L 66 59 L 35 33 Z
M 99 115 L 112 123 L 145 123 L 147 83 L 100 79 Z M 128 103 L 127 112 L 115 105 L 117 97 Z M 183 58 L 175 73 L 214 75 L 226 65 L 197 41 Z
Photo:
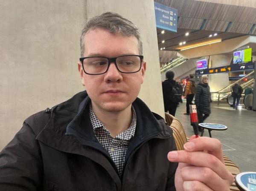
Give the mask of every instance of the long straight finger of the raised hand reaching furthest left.
M 171 162 L 182 162 L 193 166 L 211 168 L 222 179 L 230 180 L 230 176 L 233 178 L 232 174 L 227 171 L 224 163 L 212 154 L 201 151 L 171 151 L 168 153 L 167 157 Z

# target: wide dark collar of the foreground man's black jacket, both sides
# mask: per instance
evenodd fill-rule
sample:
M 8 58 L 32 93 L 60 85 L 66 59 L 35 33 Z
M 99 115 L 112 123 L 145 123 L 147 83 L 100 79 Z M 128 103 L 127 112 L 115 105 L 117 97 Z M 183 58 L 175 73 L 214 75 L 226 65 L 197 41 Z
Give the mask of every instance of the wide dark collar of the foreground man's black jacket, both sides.
M 52 108 L 52 116 L 49 123 L 40 132 L 51 131 L 53 136 L 63 139 L 70 139 L 67 135 L 76 134 L 79 142 L 99 143 L 96 139 L 89 117 L 90 97 L 86 91 L 79 92 L 70 100 L 56 105 Z M 138 142 L 143 142 L 152 136 L 158 138 L 172 135 L 171 131 L 165 127 L 165 121 L 162 117 L 150 111 L 142 100 L 137 98 L 133 103 L 137 115 L 137 126 L 134 138 Z M 39 134 L 39 135 L 40 135 Z M 38 136 L 39 136 L 38 135 Z M 71 138 L 73 140 L 73 138 Z M 54 142 L 54 140 L 51 140 Z M 68 145 L 66 145 L 68 147 Z

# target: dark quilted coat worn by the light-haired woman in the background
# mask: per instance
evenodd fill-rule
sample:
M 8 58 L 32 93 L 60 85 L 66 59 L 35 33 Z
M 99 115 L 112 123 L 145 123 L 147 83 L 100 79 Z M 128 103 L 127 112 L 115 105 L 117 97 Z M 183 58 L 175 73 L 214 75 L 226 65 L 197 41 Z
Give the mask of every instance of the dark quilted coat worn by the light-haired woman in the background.
M 211 113 L 211 92 L 208 83 L 199 83 L 198 86 L 196 86 L 195 105 L 199 112 L 203 114 Z

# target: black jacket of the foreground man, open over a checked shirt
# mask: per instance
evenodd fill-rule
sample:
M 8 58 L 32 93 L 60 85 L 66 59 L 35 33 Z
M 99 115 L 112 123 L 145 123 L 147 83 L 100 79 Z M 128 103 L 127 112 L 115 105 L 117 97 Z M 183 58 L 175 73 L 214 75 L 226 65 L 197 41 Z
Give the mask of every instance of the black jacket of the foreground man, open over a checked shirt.
M 86 92 L 32 115 L 0 152 L 0 191 L 175 191 L 172 130 L 140 99 L 122 177 L 90 124 Z

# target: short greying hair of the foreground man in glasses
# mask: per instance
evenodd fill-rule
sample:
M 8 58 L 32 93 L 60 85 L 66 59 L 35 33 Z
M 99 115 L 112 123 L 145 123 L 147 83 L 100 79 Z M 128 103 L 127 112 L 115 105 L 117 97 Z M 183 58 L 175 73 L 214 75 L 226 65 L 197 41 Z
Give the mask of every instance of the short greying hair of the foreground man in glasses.
M 102 28 L 106 29 L 112 34 L 120 33 L 125 37 L 134 35 L 139 44 L 139 54 L 143 54 L 142 40 L 140 37 L 139 29 L 130 20 L 125 19 L 121 15 L 113 12 L 106 12 L 101 15 L 91 18 L 87 23 L 85 23 L 82 29 L 82 34 L 80 37 L 80 48 L 81 57 L 84 55 L 84 36 L 89 30 Z

